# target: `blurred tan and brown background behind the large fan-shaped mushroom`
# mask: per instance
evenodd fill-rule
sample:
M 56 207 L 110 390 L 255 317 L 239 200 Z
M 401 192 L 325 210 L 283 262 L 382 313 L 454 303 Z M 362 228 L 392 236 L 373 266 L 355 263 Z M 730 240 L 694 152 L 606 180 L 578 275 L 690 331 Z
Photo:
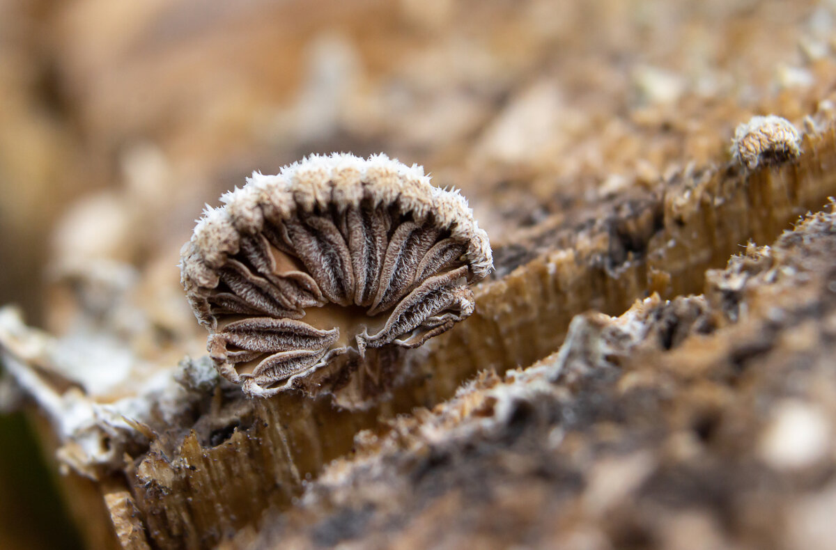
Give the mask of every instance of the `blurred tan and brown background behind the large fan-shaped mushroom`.
M 828 97 L 833 4 L 0 0 L 0 304 L 60 334 L 130 289 L 149 354 L 199 353 L 202 205 L 314 152 L 422 164 L 502 246 Z M 0 415 L 0 547 L 79 547 L 28 426 Z

